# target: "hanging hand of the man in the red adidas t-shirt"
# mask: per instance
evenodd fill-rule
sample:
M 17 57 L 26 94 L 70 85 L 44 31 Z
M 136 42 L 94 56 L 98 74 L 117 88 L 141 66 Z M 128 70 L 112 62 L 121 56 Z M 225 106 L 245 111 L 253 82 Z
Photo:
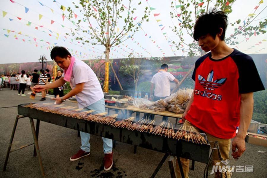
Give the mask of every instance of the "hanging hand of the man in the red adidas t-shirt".
M 236 148 L 238 149 L 237 151 L 236 151 Z M 240 157 L 245 150 L 246 150 L 245 139 L 239 136 L 236 136 L 233 139 L 233 143 L 232 143 L 233 158 Z

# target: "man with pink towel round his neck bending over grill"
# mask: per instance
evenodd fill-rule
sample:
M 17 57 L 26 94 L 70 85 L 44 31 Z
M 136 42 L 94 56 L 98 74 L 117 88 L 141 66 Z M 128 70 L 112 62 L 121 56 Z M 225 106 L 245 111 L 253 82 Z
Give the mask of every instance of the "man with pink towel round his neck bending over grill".
M 57 104 L 61 104 L 62 101 L 75 95 L 79 108 L 94 110 L 93 114 L 105 112 L 104 94 L 93 70 L 83 61 L 71 56 L 64 47 L 54 47 L 50 57 L 64 70 L 62 77 L 47 85 L 36 85 L 33 89 L 36 92 L 45 91 L 50 88 L 58 88 L 68 81 L 72 90 L 61 98 L 52 98 Z M 90 155 L 90 134 L 80 132 L 80 135 L 81 150 L 71 156 L 70 161 Z M 112 140 L 104 137 L 102 140 L 105 153 L 104 170 L 108 171 L 113 165 Z

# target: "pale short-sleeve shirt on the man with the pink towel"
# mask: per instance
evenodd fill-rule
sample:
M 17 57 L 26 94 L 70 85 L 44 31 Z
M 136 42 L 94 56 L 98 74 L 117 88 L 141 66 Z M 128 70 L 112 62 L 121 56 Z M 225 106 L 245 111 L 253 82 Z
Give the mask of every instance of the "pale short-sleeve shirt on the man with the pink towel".
M 63 73 L 63 77 L 65 74 Z M 83 83 L 83 90 L 76 95 L 79 108 L 90 106 L 104 97 L 101 85 L 94 71 L 83 61 L 75 59 L 70 79 L 71 88 Z

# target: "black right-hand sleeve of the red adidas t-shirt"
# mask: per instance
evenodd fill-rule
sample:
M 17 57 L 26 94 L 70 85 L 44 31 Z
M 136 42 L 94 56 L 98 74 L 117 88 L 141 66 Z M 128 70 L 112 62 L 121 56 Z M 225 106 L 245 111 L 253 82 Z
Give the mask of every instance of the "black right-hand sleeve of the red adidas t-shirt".
M 239 93 L 265 90 L 252 57 L 240 53 L 239 55 L 233 56 L 233 60 L 236 62 L 239 72 Z

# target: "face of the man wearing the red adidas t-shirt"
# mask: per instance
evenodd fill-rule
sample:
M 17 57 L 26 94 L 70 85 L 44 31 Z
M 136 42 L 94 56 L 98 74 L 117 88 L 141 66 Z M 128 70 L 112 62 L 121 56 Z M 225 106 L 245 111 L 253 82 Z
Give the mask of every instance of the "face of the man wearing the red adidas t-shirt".
M 205 52 L 211 51 L 213 50 L 215 47 L 217 47 L 217 45 L 219 44 L 219 37 L 218 35 L 216 35 L 215 39 L 210 35 L 204 35 L 201 36 L 198 39 L 198 45 L 201 47 L 202 50 L 204 50 Z

